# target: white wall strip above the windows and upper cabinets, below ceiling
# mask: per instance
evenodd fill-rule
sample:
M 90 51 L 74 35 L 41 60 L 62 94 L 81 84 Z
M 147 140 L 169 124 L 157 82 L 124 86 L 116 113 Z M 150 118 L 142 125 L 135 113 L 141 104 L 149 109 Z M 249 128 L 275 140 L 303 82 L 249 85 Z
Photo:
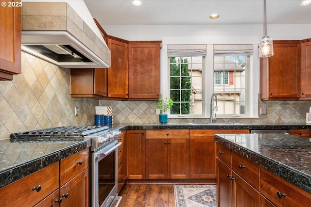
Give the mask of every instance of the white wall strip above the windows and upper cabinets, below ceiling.
M 102 25 L 102 27 L 107 34 L 126 40 L 162 40 L 163 37 L 182 36 L 219 38 L 252 36 L 257 37 L 256 42 L 259 42 L 264 35 L 263 25 Z M 311 37 L 311 24 L 267 25 L 267 35 L 275 40 L 307 39 Z

